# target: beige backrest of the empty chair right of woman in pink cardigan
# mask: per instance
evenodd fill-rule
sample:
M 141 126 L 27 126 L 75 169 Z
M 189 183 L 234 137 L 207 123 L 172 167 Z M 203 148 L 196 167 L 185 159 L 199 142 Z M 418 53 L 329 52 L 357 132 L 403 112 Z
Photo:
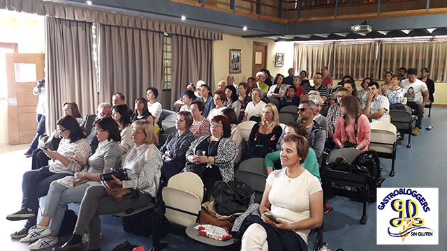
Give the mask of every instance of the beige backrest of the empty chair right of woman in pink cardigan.
M 393 153 L 395 142 L 395 132 L 390 130 L 371 129 L 371 140 L 369 142 L 368 150 L 374 150 L 377 153 Z

